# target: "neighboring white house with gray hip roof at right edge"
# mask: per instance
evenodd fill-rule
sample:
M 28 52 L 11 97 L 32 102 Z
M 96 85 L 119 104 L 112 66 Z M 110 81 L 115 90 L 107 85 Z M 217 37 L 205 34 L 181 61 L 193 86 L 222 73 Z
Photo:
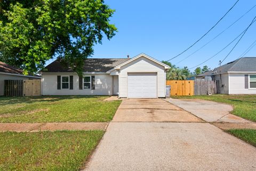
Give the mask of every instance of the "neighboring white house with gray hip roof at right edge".
M 256 94 L 256 57 L 239 58 L 203 76 L 217 80 L 221 94 Z

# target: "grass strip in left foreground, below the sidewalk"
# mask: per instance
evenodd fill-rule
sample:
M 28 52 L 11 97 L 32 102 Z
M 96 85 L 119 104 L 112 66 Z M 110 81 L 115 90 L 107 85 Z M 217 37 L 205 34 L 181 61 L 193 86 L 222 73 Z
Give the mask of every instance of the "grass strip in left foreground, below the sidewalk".
M 0 170 L 78 170 L 103 131 L 0 133 Z

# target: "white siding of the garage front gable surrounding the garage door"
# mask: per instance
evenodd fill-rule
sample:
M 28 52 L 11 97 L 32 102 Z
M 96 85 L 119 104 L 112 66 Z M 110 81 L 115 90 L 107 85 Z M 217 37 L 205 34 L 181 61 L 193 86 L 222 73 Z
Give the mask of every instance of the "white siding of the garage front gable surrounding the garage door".
M 127 97 L 128 72 L 156 72 L 157 96 L 165 97 L 165 70 L 164 67 L 144 57 L 138 58 L 122 66 L 119 71 L 119 97 Z

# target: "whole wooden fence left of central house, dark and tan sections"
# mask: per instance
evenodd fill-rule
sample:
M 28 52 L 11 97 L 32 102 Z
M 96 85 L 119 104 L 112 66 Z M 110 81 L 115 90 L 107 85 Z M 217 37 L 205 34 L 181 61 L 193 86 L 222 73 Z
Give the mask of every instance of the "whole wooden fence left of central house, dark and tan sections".
M 41 95 L 41 80 L 4 80 L 5 96 L 38 96 Z

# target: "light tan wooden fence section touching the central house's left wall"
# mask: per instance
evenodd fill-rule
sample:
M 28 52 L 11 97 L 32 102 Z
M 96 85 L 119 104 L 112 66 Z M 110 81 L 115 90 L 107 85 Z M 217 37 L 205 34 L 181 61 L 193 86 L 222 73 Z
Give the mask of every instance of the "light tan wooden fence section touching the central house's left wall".
M 23 80 L 23 96 L 41 95 L 41 80 L 28 79 Z

